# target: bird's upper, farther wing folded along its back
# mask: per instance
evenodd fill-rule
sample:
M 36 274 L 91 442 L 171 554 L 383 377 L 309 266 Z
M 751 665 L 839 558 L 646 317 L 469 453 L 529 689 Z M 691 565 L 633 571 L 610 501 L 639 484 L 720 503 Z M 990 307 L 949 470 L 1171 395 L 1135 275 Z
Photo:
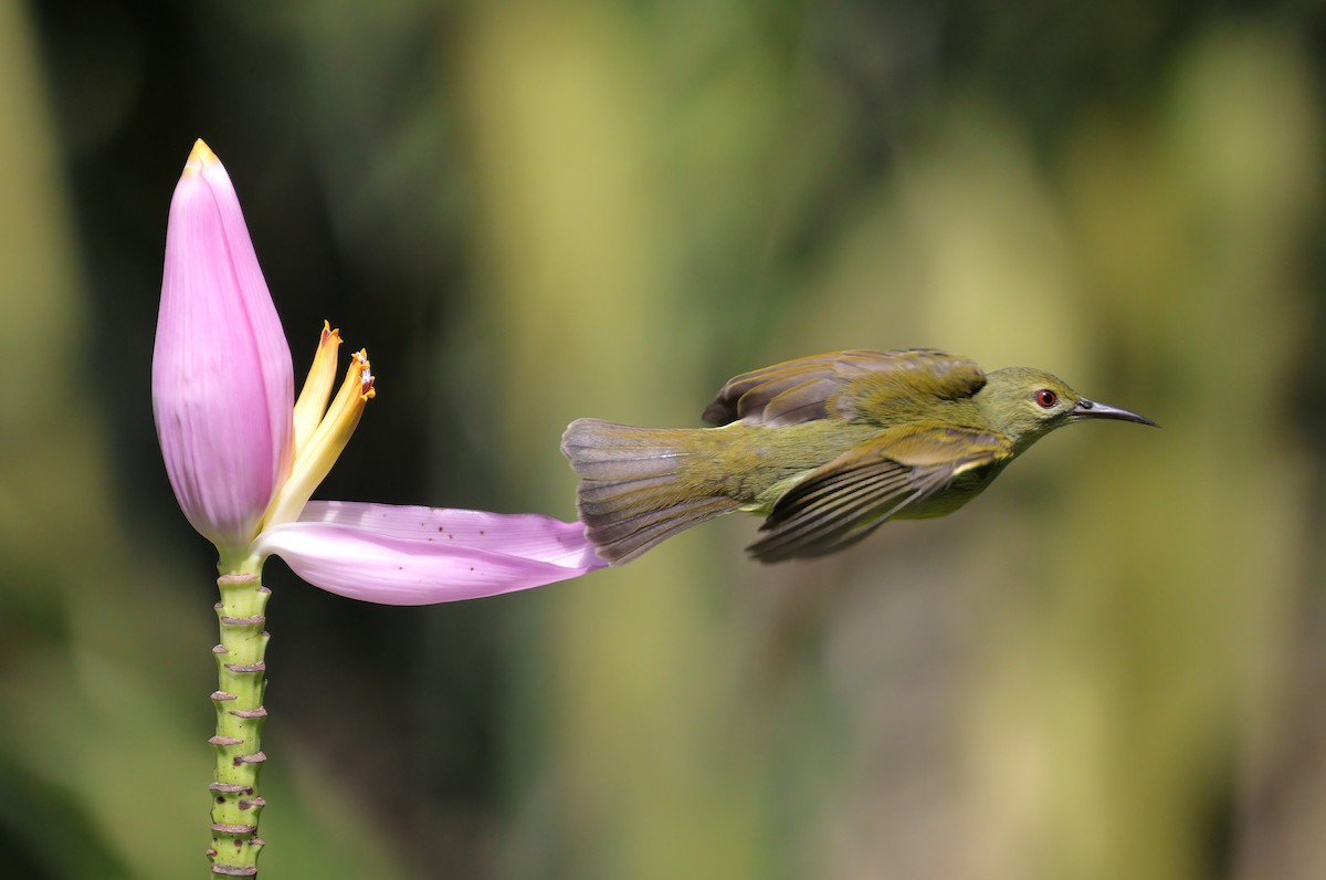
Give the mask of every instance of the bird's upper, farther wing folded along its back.
M 853 400 L 835 394 L 854 380 Z M 829 415 L 854 418 L 857 405 L 887 406 L 891 389 L 956 400 L 985 385 L 985 373 L 965 357 L 928 348 L 894 352 L 851 349 L 801 357 L 728 380 L 704 410 L 704 421 L 728 425 L 796 425 Z M 859 398 L 859 400 L 855 400 Z

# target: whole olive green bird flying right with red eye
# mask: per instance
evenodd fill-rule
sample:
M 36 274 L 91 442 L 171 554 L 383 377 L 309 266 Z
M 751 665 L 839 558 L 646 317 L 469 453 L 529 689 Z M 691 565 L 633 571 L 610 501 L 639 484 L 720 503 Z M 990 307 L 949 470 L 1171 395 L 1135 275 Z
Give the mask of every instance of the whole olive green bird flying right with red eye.
M 603 560 L 748 511 L 765 518 L 748 552 L 776 563 L 842 550 L 888 519 L 951 514 L 1032 443 L 1089 418 L 1155 425 L 1044 370 L 987 376 L 934 349 L 858 349 L 737 376 L 704 410 L 719 427 L 577 419 L 562 454 Z

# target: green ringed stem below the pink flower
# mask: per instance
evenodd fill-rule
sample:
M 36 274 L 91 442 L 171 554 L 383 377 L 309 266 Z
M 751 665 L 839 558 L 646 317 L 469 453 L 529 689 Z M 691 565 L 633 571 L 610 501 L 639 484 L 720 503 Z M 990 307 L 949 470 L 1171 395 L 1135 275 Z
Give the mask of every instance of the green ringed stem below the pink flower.
M 221 575 L 216 580 L 221 601 L 216 617 L 221 626 L 221 644 L 212 648 L 216 656 L 217 690 L 216 735 L 208 742 L 216 754 L 216 776 L 212 792 L 212 845 L 207 851 L 212 875 L 256 877 L 257 856 L 263 839 L 257 836 L 257 819 L 264 800 L 257 778 L 267 755 L 261 751 L 263 692 L 267 689 L 268 634 L 263 629 L 267 599 L 260 571 Z

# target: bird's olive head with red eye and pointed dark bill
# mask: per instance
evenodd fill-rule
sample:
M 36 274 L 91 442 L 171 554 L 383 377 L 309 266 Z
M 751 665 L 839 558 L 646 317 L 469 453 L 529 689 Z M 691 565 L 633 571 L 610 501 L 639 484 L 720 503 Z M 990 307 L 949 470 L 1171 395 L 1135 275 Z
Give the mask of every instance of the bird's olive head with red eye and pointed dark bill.
M 1136 413 L 1089 401 L 1057 376 L 1030 366 L 994 370 L 975 400 L 991 426 L 1010 437 L 1018 451 L 1055 427 L 1087 418 L 1116 418 L 1155 426 L 1150 418 Z

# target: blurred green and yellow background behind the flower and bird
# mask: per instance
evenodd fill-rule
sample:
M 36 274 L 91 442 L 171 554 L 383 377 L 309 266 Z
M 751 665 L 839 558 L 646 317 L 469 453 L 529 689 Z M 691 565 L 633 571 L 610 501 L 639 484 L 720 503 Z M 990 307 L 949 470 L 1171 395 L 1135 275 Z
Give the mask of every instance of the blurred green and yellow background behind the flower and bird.
M 206 872 L 149 396 L 203 137 L 297 369 L 373 357 L 324 498 L 569 519 L 568 421 L 851 346 L 1164 426 L 813 564 L 728 518 L 400 609 L 273 561 L 263 876 L 1326 876 L 1323 49 L 1306 1 L 0 1 L 7 872 Z

